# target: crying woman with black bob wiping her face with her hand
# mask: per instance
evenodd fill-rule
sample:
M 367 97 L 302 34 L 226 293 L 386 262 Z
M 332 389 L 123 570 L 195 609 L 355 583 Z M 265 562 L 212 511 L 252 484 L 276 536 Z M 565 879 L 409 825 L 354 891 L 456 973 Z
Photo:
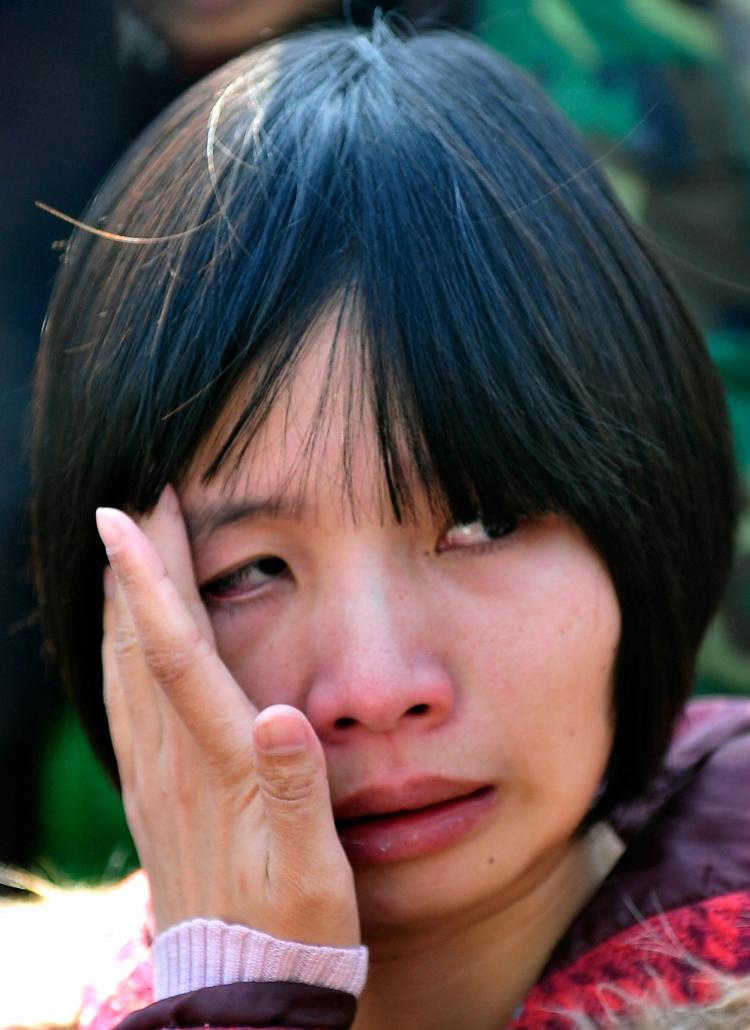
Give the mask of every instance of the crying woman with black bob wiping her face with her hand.
M 721 391 L 538 91 L 382 21 L 287 39 L 178 101 L 87 221 L 38 578 L 154 924 L 81 1025 L 149 1001 L 152 961 L 133 1027 L 346 1026 L 361 940 L 368 1030 L 710 996 L 698 926 L 742 972 L 747 825 L 696 805 L 727 751 L 747 776 L 747 712 L 694 711 L 663 761 L 730 559 Z

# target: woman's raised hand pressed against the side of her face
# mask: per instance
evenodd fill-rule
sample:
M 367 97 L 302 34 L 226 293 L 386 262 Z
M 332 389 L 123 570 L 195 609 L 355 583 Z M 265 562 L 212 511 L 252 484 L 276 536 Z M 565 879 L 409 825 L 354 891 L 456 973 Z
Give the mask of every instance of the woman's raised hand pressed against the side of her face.
M 158 931 L 204 917 L 357 945 L 320 742 L 297 709 L 259 714 L 216 653 L 174 490 L 140 527 L 114 509 L 97 524 L 105 702 Z

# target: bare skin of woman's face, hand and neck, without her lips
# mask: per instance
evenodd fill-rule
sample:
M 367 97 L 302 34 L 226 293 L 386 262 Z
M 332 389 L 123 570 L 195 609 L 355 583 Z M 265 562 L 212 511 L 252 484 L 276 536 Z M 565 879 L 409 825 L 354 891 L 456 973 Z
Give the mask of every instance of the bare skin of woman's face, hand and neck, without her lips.
M 371 974 L 357 1028 L 390 1026 L 396 1005 L 403 1025 L 489 1030 L 615 857 L 601 828 L 575 831 L 611 747 L 619 608 L 564 518 L 490 539 L 422 505 L 397 524 L 367 417 L 342 503 L 336 400 L 303 477 L 332 335 L 314 330 L 235 475 L 202 482 L 209 441 L 141 529 L 100 514 L 126 808 L 160 928 L 215 915 L 353 943 L 359 920 Z M 258 507 L 280 494 L 288 511 Z M 303 747 L 264 757 L 264 732 L 295 719 Z M 332 803 L 437 774 L 488 788 L 479 821 L 427 854 L 349 863 Z

